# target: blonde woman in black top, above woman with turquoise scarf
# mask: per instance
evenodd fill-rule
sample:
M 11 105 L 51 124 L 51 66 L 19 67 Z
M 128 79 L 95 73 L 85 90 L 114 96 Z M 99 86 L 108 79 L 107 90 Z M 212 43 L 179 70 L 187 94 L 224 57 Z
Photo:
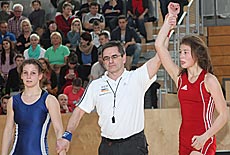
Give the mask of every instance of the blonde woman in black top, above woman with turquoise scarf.
M 22 34 L 17 39 L 16 47 L 17 51 L 23 54 L 24 51 L 30 47 L 30 35 L 33 29 L 29 19 L 22 20 L 20 28 L 22 30 Z

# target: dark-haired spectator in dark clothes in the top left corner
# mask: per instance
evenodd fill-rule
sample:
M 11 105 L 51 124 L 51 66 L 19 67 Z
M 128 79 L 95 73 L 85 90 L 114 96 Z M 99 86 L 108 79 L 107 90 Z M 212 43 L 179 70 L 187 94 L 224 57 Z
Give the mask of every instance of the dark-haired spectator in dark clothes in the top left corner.
M 11 13 L 9 12 L 10 3 L 7 1 L 1 2 L 1 11 L 0 11 L 0 21 L 8 22 L 11 17 Z

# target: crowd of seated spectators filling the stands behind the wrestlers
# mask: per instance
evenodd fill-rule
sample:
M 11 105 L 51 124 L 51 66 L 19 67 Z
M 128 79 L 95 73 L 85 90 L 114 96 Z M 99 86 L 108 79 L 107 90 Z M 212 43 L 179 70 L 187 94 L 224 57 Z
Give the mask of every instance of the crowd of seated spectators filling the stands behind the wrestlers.
M 146 39 L 143 24 L 148 21 L 148 5 L 137 0 L 129 0 L 127 9 L 122 0 L 104 4 L 62 0 L 52 4 L 57 8 L 56 16 L 46 20 L 40 0 L 31 2 L 33 11 L 28 16 L 23 16 L 22 4 L 10 8 L 9 1 L 1 2 L 1 97 L 23 89 L 20 65 L 25 59 L 38 59 L 44 69 L 41 88 L 58 98 L 62 112 L 72 112 L 88 82 L 105 72 L 103 44 L 121 41 L 128 55 L 127 70 L 137 67 L 141 36 Z M 128 10 L 128 17 L 124 10 Z M 1 110 L 4 114 L 4 106 Z

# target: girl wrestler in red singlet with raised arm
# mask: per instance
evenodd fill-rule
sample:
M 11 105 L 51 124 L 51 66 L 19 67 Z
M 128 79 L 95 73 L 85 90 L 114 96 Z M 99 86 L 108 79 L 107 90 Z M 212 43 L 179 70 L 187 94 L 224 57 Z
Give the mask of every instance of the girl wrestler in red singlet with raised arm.
M 226 101 L 221 86 L 213 75 L 205 43 L 197 36 L 182 39 L 179 68 L 171 59 L 166 46 L 167 34 L 176 24 L 179 4 L 169 4 L 169 14 L 155 42 L 164 68 L 178 88 L 182 123 L 179 133 L 180 155 L 215 155 L 215 134 L 228 120 Z M 219 115 L 212 121 L 213 111 Z

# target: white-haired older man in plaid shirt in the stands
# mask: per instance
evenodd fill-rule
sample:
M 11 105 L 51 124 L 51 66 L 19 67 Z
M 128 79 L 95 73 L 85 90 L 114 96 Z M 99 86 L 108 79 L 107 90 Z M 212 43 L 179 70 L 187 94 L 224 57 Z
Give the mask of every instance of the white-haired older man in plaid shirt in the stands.
M 26 17 L 22 16 L 22 12 L 23 6 L 21 4 L 14 4 L 14 16 L 8 20 L 8 30 L 9 32 L 15 34 L 16 38 L 18 38 L 22 33 L 22 29 L 20 27 L 21 22 L 26 19 Z

